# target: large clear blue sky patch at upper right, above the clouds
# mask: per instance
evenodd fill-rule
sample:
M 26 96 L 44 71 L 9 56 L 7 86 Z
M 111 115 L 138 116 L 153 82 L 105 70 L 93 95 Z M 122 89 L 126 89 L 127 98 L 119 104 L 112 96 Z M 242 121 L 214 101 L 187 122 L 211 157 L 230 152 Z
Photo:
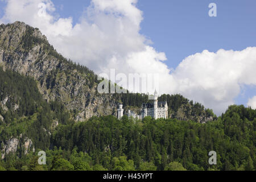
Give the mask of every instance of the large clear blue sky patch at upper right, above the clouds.
M 217 17 L 209 17 L 215 2 Z M 176 67 L 184 57 L 204 49 L 242 50 L 256 43 L 256 1 L 139 1 L 144 12 L 142 33 L 166 52 L 168 65 Z

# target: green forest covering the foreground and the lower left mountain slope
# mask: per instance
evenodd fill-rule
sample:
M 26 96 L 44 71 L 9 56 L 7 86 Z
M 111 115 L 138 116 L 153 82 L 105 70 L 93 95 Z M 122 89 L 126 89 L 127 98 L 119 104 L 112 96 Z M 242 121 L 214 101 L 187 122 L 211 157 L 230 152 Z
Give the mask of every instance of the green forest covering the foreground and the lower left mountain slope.
M 75 122 L 61 102 L 43 100 L 37 82 L 0 68 L 0 148 L 10 138 L 28 137 L 35 151 L 24 154 L 18 146 L 0 159 L 0 170 L 255 170 L 256 110 L 232 105 L 211 122 L 177 118 L 142 121 L 113 115 Z M 126 94 L 125 105 L 137 106 L 146 96 Z M 6 99 L 7 98 L 7 99 Z M 195 114 L 206 110 L 179 95 L 163 95 L 171 110 L 181 105 Z M 3 105 L 5 101 L 5 105 Z M 18 104 L 18 107 L 15 106 Z M 54 126 L 55 121 L 59 125 Z M 39 151 L 46 152 L 46 165 L 39 165 Z M 216 151 L 217 164 L 208 163 L 208 152 Z

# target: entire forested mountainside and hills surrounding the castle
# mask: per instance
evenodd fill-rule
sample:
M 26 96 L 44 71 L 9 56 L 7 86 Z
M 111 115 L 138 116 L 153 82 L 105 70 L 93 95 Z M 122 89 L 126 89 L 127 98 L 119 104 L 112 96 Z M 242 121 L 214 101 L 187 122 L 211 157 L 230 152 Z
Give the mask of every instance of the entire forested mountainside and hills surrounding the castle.
M 24 23 L 0 26 L 0 76 L 0 170 L 256 167 L 256 110 L 230 106 L 217 118 L 183 96 L 163 95 L 171 118 L 118 120 L 119 102 L 138 109 L 148 96 L 98 94 L 92 71 L 66 60 Z M 41 150 L 47 165 L 37 163 Z M 216 166 L 208 163 L 212 150 Z

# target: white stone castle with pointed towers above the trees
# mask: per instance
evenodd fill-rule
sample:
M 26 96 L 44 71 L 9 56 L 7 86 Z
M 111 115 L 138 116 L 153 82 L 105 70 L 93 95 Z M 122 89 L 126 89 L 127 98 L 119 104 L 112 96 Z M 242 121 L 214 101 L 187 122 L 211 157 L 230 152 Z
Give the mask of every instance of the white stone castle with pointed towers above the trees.
M 151 116 L 152 118 L 168 118 L 168 105 L 167 102 L 158 102 L 158 93 L 155 91 L 154 94 L 154 102 L 153 103 L 143 103 L 141 106 L 141 114 L 137 115 L 134 111 L 129 110 L 127 115 L 128 117 L 143 119 L 144 117 Z M 118 119 L 123 117 L 123 105 L 119 105 L 118 111 Z

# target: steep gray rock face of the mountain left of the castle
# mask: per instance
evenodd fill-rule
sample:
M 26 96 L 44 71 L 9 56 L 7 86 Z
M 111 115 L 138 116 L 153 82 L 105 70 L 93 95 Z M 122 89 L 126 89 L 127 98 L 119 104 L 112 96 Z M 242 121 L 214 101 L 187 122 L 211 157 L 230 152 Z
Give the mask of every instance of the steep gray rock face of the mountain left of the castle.
M 37 28 L 32 28 L 32 35 L 40 42 L 24 48 L 23 36 L 29 28 L 22 22 L 0 26 L 0 66 L 34 77 L 45 100 L 59 100 L 69 110 L 79 111 L 77 121 L 94 115 L 115 114 L 112 94 L 99 94 L 96 85 L 89 88 L 90 80 L 85 73 L 70 69 L 70 63 L 49 53 L 46 36 Z M 52 78 L 52 74 L 55 80 L 49 86 L 47 79 Z

